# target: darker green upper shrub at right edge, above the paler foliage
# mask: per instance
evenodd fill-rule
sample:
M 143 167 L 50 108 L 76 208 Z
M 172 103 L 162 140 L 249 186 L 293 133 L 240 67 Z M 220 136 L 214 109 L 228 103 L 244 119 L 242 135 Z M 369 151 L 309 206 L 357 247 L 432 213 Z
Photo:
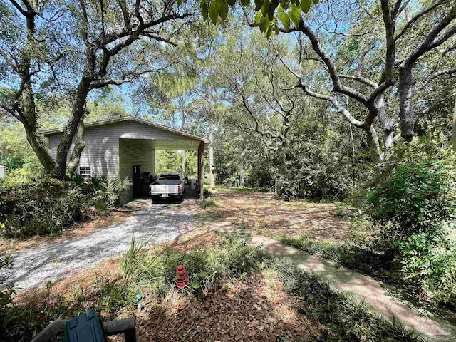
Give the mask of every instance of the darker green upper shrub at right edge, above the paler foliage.
M 373 224 L 395 241 L 436 232 L 456 218 L 456 159 L 450 150 L 416 140 L 397 151 L 393 172 L 366 198 Z

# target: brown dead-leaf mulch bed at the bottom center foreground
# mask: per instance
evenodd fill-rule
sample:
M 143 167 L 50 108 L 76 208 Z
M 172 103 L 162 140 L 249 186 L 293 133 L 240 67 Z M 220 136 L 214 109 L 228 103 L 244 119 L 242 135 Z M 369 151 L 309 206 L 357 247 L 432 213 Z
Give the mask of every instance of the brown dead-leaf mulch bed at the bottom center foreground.
M 204 299 L 175 295 L 138 317 L 141 341 L 294 341 L 318 334 L 318 324 L 301 313 L 302 303 L 260 274 L 231 281 Z

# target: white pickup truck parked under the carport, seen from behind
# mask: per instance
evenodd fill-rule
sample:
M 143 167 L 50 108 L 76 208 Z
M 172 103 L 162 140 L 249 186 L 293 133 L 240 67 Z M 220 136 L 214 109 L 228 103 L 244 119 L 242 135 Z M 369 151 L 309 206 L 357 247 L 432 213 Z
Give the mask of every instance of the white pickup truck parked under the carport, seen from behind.
M 160 173 L 149 185 L 152 199 L 174 197 L 182 199 L 185 192 L 185 177 L 181 173 Z

